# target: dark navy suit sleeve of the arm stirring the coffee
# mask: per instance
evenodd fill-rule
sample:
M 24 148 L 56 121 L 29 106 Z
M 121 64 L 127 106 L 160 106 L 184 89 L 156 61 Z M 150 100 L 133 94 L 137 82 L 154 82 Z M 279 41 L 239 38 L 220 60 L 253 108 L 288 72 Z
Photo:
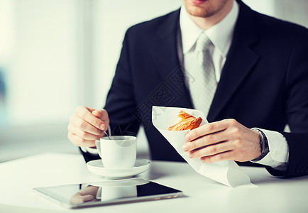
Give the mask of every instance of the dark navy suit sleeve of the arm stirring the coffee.
M 119 62 L 116 66 L 116 74 L 106 99 L 104 109 L 109 114 L 111 135 L 113 136 L 136 136 L 140 121 L 135 116 L 136 102 L 131 78 L 131 64 L 129 51 L 129 29 L 123 40 L 123 46 Z M 99 158 L 98 155 L 85 153 L 81 149 L 86 161 Z

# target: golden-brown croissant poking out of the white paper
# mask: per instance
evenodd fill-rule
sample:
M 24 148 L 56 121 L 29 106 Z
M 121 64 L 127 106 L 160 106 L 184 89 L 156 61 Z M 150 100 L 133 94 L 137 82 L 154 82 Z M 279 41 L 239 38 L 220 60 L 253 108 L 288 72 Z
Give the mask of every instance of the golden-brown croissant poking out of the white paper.
M 195 118 L 191 114 L 186 113 L 185 111 L 180 111 L 180 113 L 177 115 L 178 118 L 180 118 L 180 122 L 170 126 L 168 130 L 170 131 L 180 131 L 180 130 L 187 130 L 187 129 L 195 129 L 200 126 L 202 122 L 202 118 Z

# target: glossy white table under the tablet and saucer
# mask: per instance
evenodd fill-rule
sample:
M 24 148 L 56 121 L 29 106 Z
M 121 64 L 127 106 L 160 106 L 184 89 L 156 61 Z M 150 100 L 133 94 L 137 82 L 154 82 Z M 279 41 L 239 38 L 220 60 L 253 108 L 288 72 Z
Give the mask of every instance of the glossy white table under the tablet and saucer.
M 226 187 L 187 163 L 153 161 L 139 177 L 182 190 L 185 197 L 66 209 L 38 196 L 33 187 L 104 178 L 87 170 L 82 155 L 44 153 L 0 164 L 0 212 L 308 212 L 308 177 L 275 178 L 264 168 L 242 168 L 258 187 Z

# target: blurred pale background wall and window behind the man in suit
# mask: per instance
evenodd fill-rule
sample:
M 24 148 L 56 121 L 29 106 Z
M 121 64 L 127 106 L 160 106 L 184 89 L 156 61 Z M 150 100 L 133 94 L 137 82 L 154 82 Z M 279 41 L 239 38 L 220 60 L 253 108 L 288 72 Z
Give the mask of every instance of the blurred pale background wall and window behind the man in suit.
M 244 0 L 308 27 L 307 0 Z M 104 106 L 129 26 L 182 0 L 0 0 L 0 163 L 44 152 L 78 153 L 67 139 L 75 107 Z M 139 156 L 148 156 L 138 133 Z

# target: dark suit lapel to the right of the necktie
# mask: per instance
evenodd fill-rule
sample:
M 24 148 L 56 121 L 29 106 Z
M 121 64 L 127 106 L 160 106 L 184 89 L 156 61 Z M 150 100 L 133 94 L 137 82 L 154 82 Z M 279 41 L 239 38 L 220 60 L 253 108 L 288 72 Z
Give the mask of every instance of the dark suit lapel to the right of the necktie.
M 232 95 L 251 72 L 259 57 L 251 49 L 251 45 L 258 40 L 253 24 L 253 12 L 245 4 L 240 2 L 239 5 L 238 21 L 227 60 L 221 72 L 221 79 L 209 109 L 207 117 L 209 121 L 218 119 L 219 114 L 224 107 L 227 107 Z

